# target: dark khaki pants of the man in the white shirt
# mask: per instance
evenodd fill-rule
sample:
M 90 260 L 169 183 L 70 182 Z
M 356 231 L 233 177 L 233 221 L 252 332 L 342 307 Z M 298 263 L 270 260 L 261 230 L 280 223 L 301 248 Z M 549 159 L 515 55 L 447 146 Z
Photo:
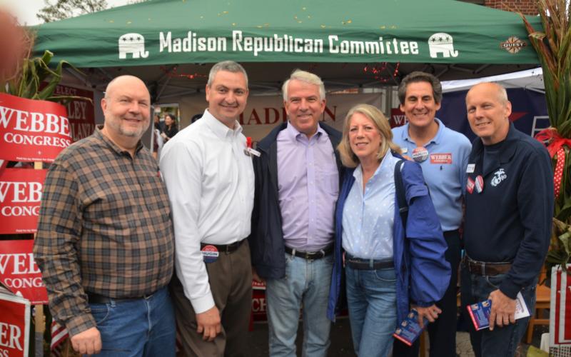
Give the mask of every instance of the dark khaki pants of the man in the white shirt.
M 222 331 L 214 341 L 203 341 L 196 332 L 196 313 L 184 295 L 181 282 L 173 276 L 171 294 L 175 306 L 176 327 L 184 356 L 247 356 L 248 326 L 252 306 L 252 268 L 250 247 L 244 241 L 233 253 L 220 253 L 206 263 L 214 303 L 221 313 Z

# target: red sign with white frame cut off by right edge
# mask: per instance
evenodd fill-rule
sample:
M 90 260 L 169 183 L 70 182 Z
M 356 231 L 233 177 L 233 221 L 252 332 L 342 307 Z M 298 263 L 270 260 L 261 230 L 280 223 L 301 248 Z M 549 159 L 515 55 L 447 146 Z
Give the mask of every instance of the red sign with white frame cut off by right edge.
M 567 270 L 571 264 L 567 264 Z M 550 346 L 571 346 L 571 273 L 551 270 Z

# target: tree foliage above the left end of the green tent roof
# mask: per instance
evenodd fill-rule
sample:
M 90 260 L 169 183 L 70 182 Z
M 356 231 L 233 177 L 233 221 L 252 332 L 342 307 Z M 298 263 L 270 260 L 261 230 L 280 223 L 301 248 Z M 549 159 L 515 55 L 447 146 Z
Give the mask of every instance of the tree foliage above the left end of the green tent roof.
M 46 6 L 36 17 L 45 22 L 68 19 L 108 8 L 105 0 L 44 0 Z

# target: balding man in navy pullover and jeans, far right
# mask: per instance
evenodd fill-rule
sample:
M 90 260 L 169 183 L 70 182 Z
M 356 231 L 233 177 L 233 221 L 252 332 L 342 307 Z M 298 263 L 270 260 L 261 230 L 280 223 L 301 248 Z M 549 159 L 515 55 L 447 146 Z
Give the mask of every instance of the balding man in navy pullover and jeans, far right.
M 515 320 L 515 299 L 521 294 L 533 313 L 550 242 L 551 161 L 539 141 L 510 124 L 512 106 L 502 86 L 473 86 L 466 107 L 478 138 L 466 169 L 463 311 L 490 298 L 490 328 L 470 331 L 475 354 L 514 356 L 529 319 Z

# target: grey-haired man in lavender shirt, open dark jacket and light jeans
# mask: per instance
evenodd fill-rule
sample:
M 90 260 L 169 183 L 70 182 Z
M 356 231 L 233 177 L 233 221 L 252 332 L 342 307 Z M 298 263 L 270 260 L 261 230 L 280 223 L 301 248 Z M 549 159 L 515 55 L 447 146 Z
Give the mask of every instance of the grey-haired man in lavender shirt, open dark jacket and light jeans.
M 256 192 L 250 245 L 253 276 L 266 280 L 270 356 L 296 356 L 303 306 L 303 356 L 326 356 L 327 302 L 339 192 L 340 132 L 319 122 L 325 87 L 296 70 L 283 84 L 288 122 L 273 129 L 254 157 Z

